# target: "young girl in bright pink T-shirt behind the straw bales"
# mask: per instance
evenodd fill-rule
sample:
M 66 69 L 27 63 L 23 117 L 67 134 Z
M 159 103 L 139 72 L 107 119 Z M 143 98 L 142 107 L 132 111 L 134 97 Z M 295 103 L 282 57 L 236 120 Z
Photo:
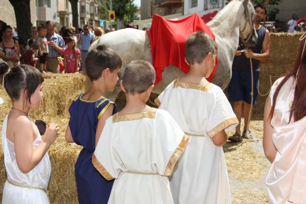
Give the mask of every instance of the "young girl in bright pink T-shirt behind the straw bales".
M 68 37 L 66 42 L 68 47 L 63 51 L 65 73 L 74 73 L 79 71 L 80 50 L 75 48 L 73 37 Z

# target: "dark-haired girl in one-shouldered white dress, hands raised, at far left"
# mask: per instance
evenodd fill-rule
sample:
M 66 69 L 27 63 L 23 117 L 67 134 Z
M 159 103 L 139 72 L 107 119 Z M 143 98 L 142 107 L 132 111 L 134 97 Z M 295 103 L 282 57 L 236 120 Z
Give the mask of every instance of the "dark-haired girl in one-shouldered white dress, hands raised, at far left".
M 2 148 L 7 181 L 2 203 L 49 203 L 46 194 L 51 164 L 47 149 L 58 136 L 58 125 L 46 126 L 42 138 L 29 117 L 41 103 L 41 73 L 31 66 L 14 66 L 4 77 L 4 87 L 12 99 L 12 110 L 2 126 Z

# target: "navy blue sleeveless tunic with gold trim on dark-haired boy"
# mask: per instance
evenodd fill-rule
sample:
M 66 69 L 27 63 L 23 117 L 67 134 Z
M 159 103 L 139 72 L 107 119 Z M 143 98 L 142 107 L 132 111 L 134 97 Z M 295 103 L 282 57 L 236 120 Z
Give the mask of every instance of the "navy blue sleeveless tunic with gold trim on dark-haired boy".
M 103 204 L 108 202 L 113 181 L 107 181 L 100 175 L 92 165 L 91 156 L 95 150 L 98 119 L 114 103 L 103 97 L 94 101 L 84 100 L 82 95 L 74 99 L 69 108 L 69 127 L 73 141 L 83 146 L 74 168 L 78 198 L 80 204 Z M 113 114 L 117 112 L 114 104 Z

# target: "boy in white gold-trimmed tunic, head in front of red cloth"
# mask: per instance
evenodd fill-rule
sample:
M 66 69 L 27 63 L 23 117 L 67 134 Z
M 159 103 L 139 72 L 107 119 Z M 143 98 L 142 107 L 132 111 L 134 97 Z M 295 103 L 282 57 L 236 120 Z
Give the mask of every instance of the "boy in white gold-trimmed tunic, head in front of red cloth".
M 190 71 L 173 81 L 155 100 L 190 136 L 170 178 L 174 203 L 231 203 L 222 145 L 226 132 L 238 124 L 223 91 L 209 83 L 217 45 L 202 31 L 188 37 L 186 62 Z

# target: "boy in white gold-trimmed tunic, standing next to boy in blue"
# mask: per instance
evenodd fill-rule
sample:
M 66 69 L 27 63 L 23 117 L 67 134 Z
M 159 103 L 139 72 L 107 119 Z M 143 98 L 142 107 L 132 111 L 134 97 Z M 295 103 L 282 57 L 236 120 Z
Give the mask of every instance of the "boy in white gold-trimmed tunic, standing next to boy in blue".
M 167 176 L 188 138 L 168 112 L 146 105 L 154 82 L 149 62 L 127 65 L 126 106 L 106 120 L 92 156 L 105 179 L 116 179 L 108 203 L 173 203 Z

